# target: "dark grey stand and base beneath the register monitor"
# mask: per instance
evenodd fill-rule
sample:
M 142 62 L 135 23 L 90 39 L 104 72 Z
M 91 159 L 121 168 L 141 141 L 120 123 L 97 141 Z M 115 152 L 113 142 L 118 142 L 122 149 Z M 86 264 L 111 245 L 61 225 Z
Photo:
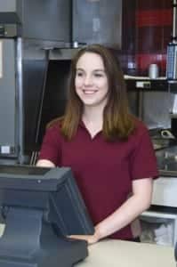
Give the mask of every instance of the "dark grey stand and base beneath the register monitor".
M 71 267 L 87 255 L 86 242 L 59 237 L 42 210 L 10 207 L 0 238 L 0 267 Z

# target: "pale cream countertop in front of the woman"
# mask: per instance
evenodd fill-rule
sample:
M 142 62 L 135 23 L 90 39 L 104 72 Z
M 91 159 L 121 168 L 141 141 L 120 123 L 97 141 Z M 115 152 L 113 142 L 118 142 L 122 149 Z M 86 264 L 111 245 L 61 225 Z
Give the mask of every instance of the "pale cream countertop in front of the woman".
M 89 246 L 89 256 L 75 267 L 176 267 L 173 247 L 121 240 Z

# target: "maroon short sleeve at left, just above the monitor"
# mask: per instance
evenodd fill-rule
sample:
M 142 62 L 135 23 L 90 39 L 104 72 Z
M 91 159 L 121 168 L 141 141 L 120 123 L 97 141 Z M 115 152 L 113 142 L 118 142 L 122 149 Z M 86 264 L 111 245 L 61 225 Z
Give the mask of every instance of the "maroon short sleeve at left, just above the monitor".
M 51 127 L 46 130 L 38 159 L 48 159 L 55 166 L 60 166 L 60 130 Z

